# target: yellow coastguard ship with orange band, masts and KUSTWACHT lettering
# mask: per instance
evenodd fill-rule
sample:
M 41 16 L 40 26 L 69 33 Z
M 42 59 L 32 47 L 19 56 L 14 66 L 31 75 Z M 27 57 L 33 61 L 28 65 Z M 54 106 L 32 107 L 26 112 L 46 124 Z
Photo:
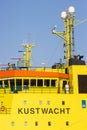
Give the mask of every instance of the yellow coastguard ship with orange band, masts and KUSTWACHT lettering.
M 0 69 L 0 129 L 86 130 L 87 66 L 73 54 L 75 8 L 61 13 L 64 31 L 52 33 L 64 40 L 65 63 L 32 68 L 33 44 L 23 44 L 17 66 Z

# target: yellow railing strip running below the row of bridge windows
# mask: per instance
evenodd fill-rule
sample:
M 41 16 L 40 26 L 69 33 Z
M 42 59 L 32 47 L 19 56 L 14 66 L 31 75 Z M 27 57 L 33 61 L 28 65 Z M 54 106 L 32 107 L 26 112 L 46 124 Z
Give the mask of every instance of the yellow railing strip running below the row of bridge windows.
M 0 94 L 16 94 L 16 93 L 58 93 L 66 94 L 64 89 L 58 87 L 30 87 L 28 89 L 23 89 L 22 91 L 14 90 L 11 91 L 9 88 L 1 88 Z M 73 94 L 73 89 L 70 88 L 69 94 Z

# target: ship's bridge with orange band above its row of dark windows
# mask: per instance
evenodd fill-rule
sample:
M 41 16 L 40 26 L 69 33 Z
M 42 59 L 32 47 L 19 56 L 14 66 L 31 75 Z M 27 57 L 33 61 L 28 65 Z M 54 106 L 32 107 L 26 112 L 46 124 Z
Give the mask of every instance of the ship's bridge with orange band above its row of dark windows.
M 68 81 L 69 75 L 63 69 L 11 68 L 0 70 L 0 93 L 65 93 L 64 86 Z

